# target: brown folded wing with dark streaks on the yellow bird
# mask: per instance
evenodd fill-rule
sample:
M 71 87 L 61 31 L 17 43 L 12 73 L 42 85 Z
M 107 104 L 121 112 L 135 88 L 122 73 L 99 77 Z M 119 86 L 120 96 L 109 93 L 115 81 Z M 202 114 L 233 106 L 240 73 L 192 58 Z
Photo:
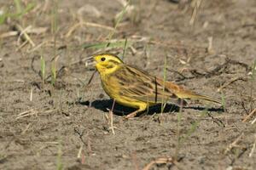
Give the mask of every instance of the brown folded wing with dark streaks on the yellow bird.
M 119 94 L 128 98 L 137 99 L 139 101 L 151 104 L 169 101 L 177 104 L 177 96 L 174 90 L 179 87 L 172 82 L 165 82 L 165 90 L 163 90 L 163 80 L 149 75 L 146 71 L 141 71 L 130 65 L 124 65 L 116 72 L 119 84 Z

